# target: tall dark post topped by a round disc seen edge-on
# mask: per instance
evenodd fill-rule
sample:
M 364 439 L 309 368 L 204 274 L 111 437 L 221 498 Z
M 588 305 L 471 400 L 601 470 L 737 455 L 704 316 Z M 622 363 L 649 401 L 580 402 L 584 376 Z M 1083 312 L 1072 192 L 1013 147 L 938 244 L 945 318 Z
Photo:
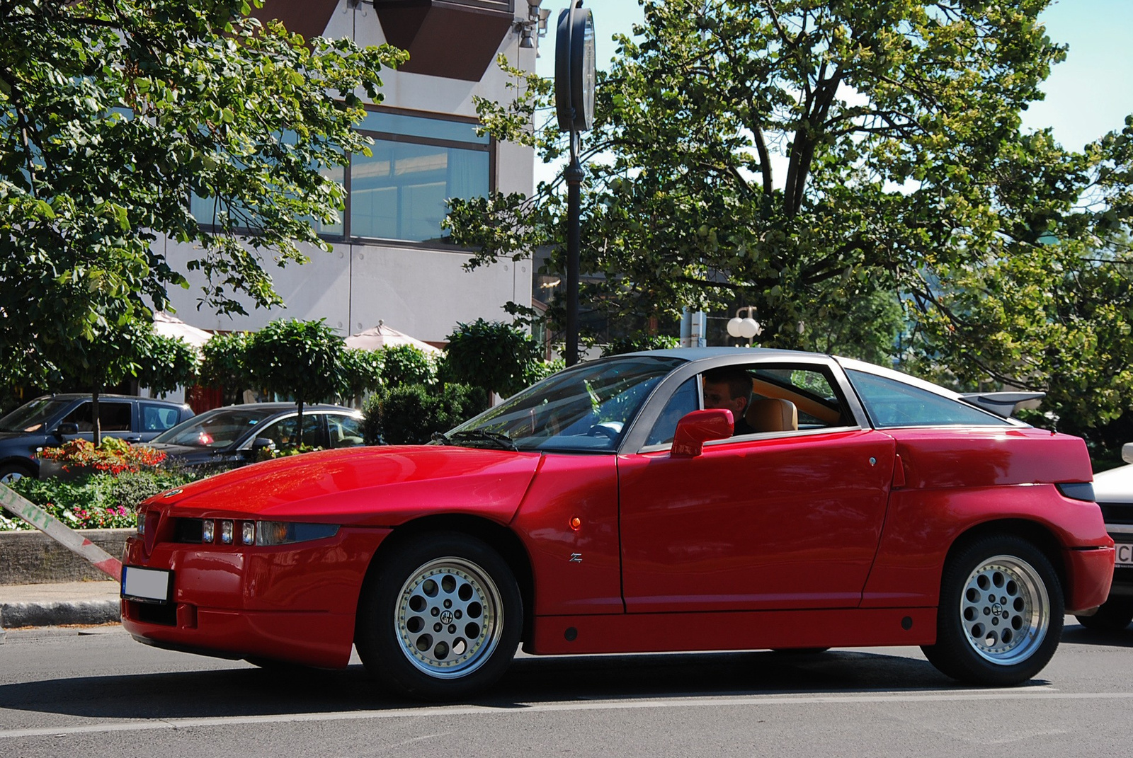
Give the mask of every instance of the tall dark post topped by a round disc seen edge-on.
M 566 365 L 578 363 L 578 280 L 581 248 L 581 188 L 586 173 L 579 160 L 579 133 L 594 124 L 594 16 L 574 0 L 559 14 L 555 39 L 555 110 L 559 128 L 570 134 L 566 181 Z

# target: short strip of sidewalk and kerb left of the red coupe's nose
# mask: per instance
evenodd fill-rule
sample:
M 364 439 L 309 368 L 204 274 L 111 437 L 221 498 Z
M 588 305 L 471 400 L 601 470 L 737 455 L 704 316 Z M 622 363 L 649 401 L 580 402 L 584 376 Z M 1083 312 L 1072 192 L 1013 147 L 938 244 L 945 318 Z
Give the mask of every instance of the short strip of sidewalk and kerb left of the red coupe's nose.
M 0 585 L 0 642 L 16 627 L 103 624 L 120 621 L 117 581 Z

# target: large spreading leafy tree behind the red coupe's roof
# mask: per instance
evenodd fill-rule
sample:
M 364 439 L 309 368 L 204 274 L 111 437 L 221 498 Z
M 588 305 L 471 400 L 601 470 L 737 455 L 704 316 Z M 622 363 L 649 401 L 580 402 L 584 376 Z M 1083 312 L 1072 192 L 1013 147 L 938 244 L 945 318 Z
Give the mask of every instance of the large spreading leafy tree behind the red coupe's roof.
M 753 305 L 761 344 L 875 360 L 897 356 L 903 333 L 898 357 L 922 369 L 1050 391 L 1083 426 L 1128 409 L 1127 390 L 1096 392 L 1105 371 L 1085 364 L 1101 356 L 1083 347 L 1133 313 L 1116 289 L 1133 137 L 1075 153 L 1021 130 L 1065 57 L 1038 22 L 1047 5 L 645 0 L 586 135 L 582 269 L 604 281 L 583 297 L 670 322 Z M 561 154 L 553 125 L 525 130 L 550 86 L 523 86 L 513 107 L 479 102 L 487 127 Z M 474 265 L 548 245 L 562 271 L 564 205 L 555 181 L 454 201 L 449 223 L 483 246 Z M 1087 282 L 1123 299 L 1077 305 Z M 1123 350 L 1105 350 L 1111 368 Z

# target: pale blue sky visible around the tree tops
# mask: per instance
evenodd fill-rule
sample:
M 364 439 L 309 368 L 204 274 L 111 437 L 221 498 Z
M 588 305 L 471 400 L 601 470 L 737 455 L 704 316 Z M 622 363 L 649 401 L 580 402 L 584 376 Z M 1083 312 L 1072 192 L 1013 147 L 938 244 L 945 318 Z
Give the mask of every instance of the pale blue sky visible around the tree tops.
M 642 20 L 638 0 L 583 0 L 594 12 L 598 67 L 614 56 L 614 34 L 631 34 Z M 554 76 L 554 23 L 566 7 L 563 0 L 544 0 L 551 8 L 551 29 L 540 41 L 538 73 Z M 1054 67 L 1043 91 L 1046 100 L 1023 114 L 1024 129 L 1054 128 L 1065 147 L 1081 147 L 1124 125 L 1133 113 L 1133 0 L 1055 0 L 1040 17 L 1047 36 L 1068 44 L 1066 60 Z

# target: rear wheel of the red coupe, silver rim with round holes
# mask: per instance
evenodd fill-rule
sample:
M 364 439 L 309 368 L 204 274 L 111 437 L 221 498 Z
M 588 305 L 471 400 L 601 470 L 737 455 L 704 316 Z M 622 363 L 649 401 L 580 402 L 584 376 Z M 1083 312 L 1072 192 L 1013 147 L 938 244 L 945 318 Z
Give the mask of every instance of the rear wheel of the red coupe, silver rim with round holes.
M 1020 684 L 1055 654 L 1064 613 L 1062 584 L 1041 551 L 1019 537 L 983 537 L 945 563 L 936 645 L 921 649 L 962 682 Z

